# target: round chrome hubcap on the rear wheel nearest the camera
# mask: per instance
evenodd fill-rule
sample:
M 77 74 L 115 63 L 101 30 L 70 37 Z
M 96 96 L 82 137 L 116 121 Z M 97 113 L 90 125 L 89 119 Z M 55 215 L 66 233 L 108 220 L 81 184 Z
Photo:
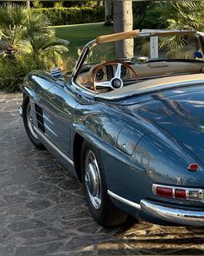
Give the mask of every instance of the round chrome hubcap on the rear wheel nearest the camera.
M 98 162 L 92 150 L 86 154 L 85 183 L 92 206 L 99 209 L 101 206 L 101 181 Z

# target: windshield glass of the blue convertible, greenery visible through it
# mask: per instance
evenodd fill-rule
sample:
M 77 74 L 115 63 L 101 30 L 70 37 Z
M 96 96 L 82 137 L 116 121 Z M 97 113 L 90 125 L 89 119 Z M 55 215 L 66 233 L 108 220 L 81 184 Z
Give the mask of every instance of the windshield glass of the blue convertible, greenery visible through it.
M 130 62 L 148 62 L 150 60 L 192 59 L 203 61 L 201 45 L 196 36 L 137 36 L 126 39 L 128 56 L 122 53 L 121 42 L 102 43 L 93 47 L 82 69 L 90 65 L 111 60 L 129 60 Z M 118 48 L 116 44 L 118 43 Z M 117 51 L 118 49 L 118 51 Z M 130 50 L 131 49 L 131 50 Z

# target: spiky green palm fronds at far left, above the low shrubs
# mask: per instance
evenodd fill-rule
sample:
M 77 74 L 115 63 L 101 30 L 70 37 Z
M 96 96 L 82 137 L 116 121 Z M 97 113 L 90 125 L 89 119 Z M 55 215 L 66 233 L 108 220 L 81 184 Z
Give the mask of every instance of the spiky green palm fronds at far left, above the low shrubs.
M 6 55 L 33 56 L 35 62 L 47 59 L 48 66 L 49 60 L 60 60 L 68 50 L 68 42 L 57 39 L 50 25 L 43 14 L 18 5 L 3 5 L 0 8 L 0 49 Z

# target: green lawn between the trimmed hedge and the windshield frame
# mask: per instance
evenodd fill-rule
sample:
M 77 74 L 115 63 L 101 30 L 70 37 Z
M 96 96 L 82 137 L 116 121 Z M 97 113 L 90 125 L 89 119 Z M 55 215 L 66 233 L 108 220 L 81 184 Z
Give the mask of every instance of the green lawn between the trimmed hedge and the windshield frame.
M 104 26 L 104 23 L 86 23 L 77 25 L 54 26 L 56 36 L 67 39 L 70 56 L 78 58 L 77 50 L 97 36 L 112 34 L 113 28 Z

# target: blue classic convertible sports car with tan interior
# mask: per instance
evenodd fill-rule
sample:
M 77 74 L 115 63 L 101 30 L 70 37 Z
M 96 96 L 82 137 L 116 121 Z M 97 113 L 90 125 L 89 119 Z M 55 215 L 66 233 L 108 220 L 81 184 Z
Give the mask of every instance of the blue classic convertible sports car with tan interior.
M 86 44 L 72 74 L 38 70 L 25 78 L 19 112 L 30 141 L 83 182 L 100 225 L 119 225 L 131 214 L 204 226 L 202 36 L 188 30 L 99 36 Z M 135 40 L 132 57 L 114 57 L 122 40 Z

